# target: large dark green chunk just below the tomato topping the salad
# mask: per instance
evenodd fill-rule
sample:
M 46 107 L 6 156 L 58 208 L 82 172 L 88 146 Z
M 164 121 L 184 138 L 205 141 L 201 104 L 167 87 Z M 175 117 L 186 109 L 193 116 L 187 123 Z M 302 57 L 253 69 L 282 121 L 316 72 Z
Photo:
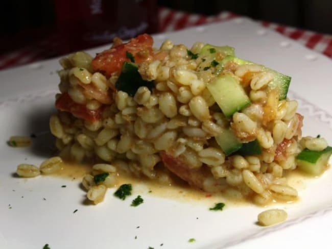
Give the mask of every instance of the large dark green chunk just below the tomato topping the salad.
M 146 86 L 152 91 L 154 84 L 152 81 L 145 81 L 142 79 L 136 64 L 125 61 L 122 65 L 121 74 L 115 82 L 115 88 L 118 91 L 127 92 L 129 96 L 133 97 L 137 89 L 141 86 Z

